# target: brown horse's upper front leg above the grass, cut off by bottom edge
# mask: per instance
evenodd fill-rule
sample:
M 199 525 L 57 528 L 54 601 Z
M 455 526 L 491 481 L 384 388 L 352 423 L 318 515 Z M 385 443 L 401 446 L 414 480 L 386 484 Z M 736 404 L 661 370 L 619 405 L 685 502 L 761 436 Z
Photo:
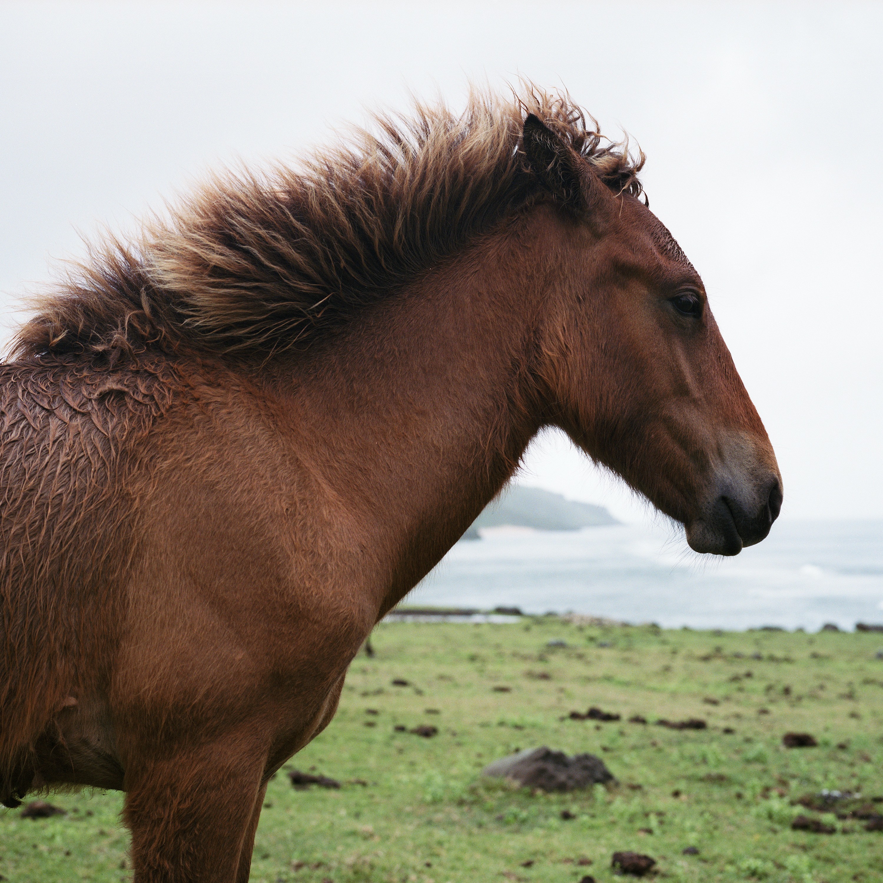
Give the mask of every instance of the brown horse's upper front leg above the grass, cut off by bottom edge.
M 131 758 L 125 819 L 135 883 L 244 883 L 266 762 L 242 734 Z

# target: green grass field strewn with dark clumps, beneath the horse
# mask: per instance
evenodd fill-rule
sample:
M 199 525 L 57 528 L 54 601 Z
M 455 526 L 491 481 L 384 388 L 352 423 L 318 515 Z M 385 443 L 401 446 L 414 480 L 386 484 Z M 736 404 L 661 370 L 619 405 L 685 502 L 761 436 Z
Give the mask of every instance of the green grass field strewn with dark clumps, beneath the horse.
M 252 879 L 600 883 L 622 879 L 610 868 L 622 849 L 653 856 L 660 879 L 883 879 L 883 833 L 794 805 L 821 789 L 883 796 L 881 646 L 873 633 L 597 628 L 552 616 L 382 624 L 374 658 L 352 663 L 335 721 L 287 766 L 342 787 L 296 790 L 285 770 L 270 782 Z M 622 720 L 567 719 L 590 705 Z M 636 714 L 650 722 L 629 722 Z M 708 727 L 653 724 L 691 717 Z M 420 725 L 438 734 L 408 731 Z M 819 746 L 786 749 L 787 731 Z M 543 744 L 599 755 L 618 784 L 549 796 L 482 779 L 494 758 Z M 67 815 L 0 810 L 4 879 L 132 879 L 122 796 L 50 800 Z M 798 812 L 836 833 L 792 830 Z

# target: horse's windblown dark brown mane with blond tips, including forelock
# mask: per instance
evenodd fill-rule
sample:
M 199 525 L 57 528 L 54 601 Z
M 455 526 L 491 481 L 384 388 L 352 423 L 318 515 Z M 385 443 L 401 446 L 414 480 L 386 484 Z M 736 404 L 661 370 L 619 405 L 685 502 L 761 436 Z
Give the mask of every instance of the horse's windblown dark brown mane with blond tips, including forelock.
M 567 94 L 473 91 L 464 111 L 415 102 L 297 169 L 215 175 L 144 224 L 89 247 L 34 299 L 15 358 L 174 351 L 269 355 L 306 345 L 491 229 L 540 192 L 520 138 L 540 117 L 615 192 L 639 195 L 630 155 Z

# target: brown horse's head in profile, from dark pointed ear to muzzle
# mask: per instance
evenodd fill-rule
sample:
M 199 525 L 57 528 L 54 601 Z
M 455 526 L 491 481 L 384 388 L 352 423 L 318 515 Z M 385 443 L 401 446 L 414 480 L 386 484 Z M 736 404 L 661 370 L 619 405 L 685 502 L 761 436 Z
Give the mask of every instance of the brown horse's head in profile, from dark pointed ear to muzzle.
M 682 522 L 697 552 L 763 540 L 781 477 L 698 273 L 648 208 L 537 117 L 523 145 L 562 259 L 542 343 L 548 422 Z

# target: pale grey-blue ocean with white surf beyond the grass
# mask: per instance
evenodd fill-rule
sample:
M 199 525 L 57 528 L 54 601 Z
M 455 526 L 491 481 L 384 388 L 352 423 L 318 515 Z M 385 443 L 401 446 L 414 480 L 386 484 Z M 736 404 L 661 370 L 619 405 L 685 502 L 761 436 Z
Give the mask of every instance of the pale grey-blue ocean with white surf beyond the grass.
M 486 529 L 458 542 L 406 603 L 664 628 L 851 630 L 883 623 L 883 521 L 783 521 L 733 558 L 696 555 L 667 525 Z

